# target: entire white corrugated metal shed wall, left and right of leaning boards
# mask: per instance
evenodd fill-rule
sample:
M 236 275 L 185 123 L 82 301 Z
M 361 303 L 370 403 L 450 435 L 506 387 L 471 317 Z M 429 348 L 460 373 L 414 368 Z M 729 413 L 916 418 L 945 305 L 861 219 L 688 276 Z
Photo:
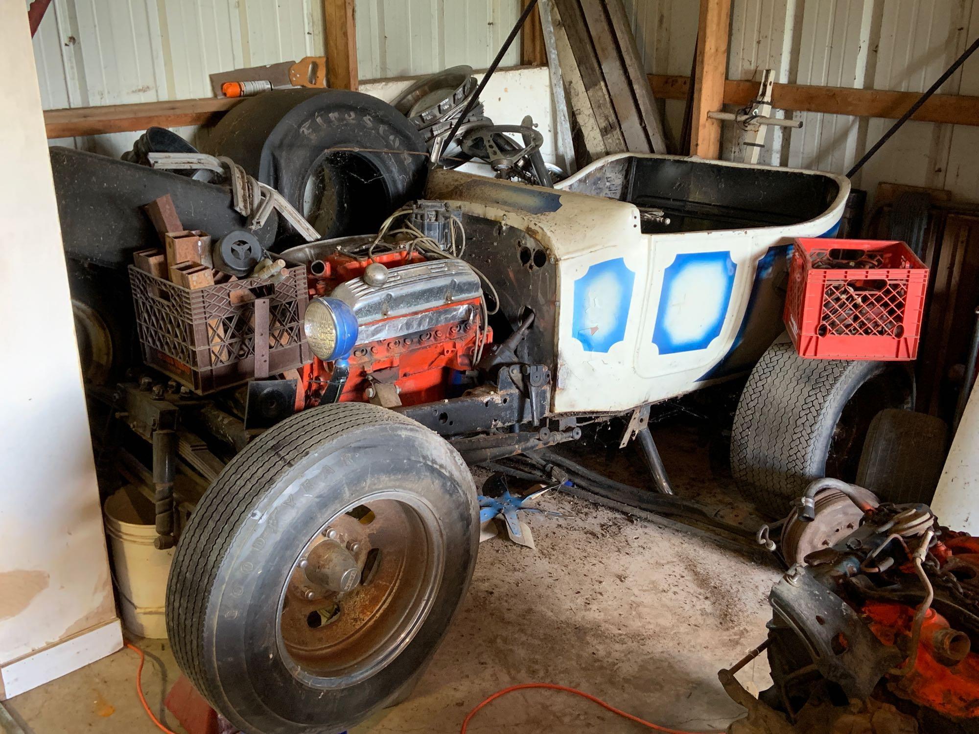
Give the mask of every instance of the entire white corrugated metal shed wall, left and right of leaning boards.
M 624 0 L 650 72 L 688 74 L 693 0 Z M 361 78 L 489 65 L 520 0 L 357 0 Z M 733 0 L 728 75 L 922 91 L 979 33 L 979 0 Z M 503 66 L 518 63 L 518 44 Z M 44 106 L 84 107 L 209 96 L 208 75 L 322 55 L 321 0 L 55 0 L 34 37 Z M 979 58 L 941 90 L 979 94 Z M 683 103 L 664 105 L 679 132 Z M 791 114 L 791 111 L 788 111 Z M 801 130 L 769 130 L 763 161 L 845 172 L 889 120 L 796 114 Z M 78 141 L 117 153 L 135 134 Z M 723 155 L 740 160 L 725 125 Z M 979 128 L 911 122 L 856 179 L 951 189 L 974 200 Z

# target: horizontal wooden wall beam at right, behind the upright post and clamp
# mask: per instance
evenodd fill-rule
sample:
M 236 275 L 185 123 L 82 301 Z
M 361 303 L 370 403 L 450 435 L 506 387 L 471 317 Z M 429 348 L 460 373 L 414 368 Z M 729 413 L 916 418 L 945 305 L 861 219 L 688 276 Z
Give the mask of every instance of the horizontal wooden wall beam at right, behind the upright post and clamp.
M 686 88 L 689 84 L 686 76 L 649 74 L 649 83 L 653 94 L 660 99 L 686 99 Z M 743 107 L 755 99 L 756 94 L 758 82 L 727 79 L 724 82 L 723 103 Z M 774 84 L 771 88 L 771 106 L 801 113 L 897 119 L 920 96 L 917 92 Z M 911 119 L 954 125 L 979 125 L 979 97 L 936 94 Z

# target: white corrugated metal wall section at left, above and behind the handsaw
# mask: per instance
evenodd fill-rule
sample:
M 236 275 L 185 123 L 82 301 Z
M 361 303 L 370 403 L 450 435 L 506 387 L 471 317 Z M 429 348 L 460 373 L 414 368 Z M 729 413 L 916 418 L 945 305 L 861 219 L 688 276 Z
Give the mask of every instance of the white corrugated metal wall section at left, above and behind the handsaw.
M 360 77 L 486 68 L 519 15 L 520 0 L 357 0 Z M 216 71 L 325 54 L 323 2 L 54 0 L 33 47 L 46 110 L 210 97 Z M 516 43 L 502 65 L 519 58 Z M 117 155 L 138 135 L 57 144 Z

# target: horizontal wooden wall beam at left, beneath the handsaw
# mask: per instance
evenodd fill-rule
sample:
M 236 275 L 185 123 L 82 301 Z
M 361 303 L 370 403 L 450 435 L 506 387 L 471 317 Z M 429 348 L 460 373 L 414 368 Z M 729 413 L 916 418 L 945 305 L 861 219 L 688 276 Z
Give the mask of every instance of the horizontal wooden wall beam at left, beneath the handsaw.
M 44 127 L 48 138 L 71 138 L 76 135 L 145 130 L 154 125 L 160 127 L 203 125 L 219 115 L 224 115 L 241 101 L 241 98 L 219 97 L 46 110 Z

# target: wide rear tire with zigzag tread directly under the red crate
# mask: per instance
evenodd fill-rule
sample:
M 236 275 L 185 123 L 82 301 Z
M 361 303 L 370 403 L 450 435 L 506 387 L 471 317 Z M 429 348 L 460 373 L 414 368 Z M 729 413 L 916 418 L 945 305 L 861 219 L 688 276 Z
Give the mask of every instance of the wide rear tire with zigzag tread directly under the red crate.
M 734 414 L 731 475 L 763 514 L 785 517 L 809 482 L 853 482 L 871 418 L 909 395 L 900 366 L 804 359 L 792 344 L 772 344 Z

